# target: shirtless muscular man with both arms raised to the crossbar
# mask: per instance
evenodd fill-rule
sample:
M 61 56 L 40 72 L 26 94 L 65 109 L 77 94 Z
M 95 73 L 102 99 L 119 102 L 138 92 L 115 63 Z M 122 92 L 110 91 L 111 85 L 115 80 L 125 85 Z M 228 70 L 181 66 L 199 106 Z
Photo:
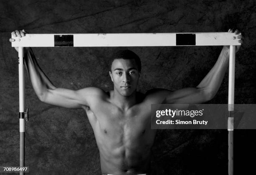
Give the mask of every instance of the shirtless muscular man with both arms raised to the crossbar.
M 12 32 L 17 38 L 25 35 L 25 30 Z M 243 37 L 238 38 L 242 43 Z M 10 38 L 12 41 L 15 39 Z M 109 75 L 114 90 L 110 92 L 96 87 L 58 88 L 38 66 L 32 49 L 25 48 L 25 51 L 26 68 L 38 98 L 47 104 L 86 111 L 100 151 L 101 172 L 111 175 L 150 173 L 151 147 L 156 135 L 156 130 L 151 129 L 151 104 L 200 104 L 212 99 L 229 59 L 229 47 L 224 46 L 215 66 L 195 88 L 151 89 L 142 94 L 136 91 L 141 61 L 132 51 L 118 51 L 113 56 Z

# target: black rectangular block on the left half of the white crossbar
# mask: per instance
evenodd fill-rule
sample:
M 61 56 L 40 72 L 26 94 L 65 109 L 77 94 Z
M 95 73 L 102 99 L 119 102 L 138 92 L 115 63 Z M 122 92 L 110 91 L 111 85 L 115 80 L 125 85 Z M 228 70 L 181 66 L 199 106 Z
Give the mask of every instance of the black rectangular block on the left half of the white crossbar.
M 73 47 L 73 35 L 54 35 L 54 47 Z

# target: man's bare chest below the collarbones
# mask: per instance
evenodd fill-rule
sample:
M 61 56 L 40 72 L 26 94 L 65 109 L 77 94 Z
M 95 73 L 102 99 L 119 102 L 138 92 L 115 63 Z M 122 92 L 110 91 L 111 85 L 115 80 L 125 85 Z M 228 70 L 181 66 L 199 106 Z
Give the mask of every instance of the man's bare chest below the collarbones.
M 138 105 L 125 112 L 112 105 L 105 105 L 97 110 L 87 109 L 86 113 L 92 128 L 99 134 L 134 137 L 151 129 L 150 105 Z

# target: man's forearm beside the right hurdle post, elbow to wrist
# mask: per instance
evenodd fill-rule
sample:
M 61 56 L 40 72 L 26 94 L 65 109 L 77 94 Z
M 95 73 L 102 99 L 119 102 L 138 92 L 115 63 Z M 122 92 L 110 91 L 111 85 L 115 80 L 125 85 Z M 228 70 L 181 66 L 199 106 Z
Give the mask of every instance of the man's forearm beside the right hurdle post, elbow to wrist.
M 197 86 L 197 88 L 202 89 L 207 95 L 209 95 L 210 99 L 215 96 L 218 89 L 220 88 L 220 84 L 228 67 L 228 62 L 229 50 L 223 47 L 217 62 Z

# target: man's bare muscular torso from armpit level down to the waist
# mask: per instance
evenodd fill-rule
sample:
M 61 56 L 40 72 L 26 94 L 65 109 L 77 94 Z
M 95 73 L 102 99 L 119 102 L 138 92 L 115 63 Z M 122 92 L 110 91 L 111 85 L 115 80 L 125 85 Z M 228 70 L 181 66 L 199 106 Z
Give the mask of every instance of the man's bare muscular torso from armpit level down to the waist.
M 150 117 L 116 114 L 97 119 L 93 129 L 100 150 L 102 173 L 145 173 L 150 168 L 155 137 Z

